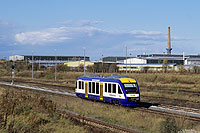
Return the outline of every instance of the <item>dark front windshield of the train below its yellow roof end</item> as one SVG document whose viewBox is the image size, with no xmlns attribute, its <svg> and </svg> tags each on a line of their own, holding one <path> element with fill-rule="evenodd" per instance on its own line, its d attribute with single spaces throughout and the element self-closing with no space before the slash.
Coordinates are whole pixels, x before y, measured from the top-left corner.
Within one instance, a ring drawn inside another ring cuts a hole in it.
<svg viewBox="0 0 200 133">
<path fill-rule="evenodd" d="M 136 83 L 125 83 L 123 84 L 126 94 L 138 94 L 138 88 Z"/>
</svg>

